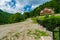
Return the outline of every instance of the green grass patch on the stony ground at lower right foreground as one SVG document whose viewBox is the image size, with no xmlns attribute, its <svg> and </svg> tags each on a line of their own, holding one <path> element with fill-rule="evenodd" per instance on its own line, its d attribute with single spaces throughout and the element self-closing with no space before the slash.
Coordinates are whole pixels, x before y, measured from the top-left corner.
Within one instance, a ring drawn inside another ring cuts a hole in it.
<svg viewBox="0 0 60 40">
<path fill-rule="evenodd" d="M 35 29 L 34 32 L 29 30 L 27 34 L 28 36 L 33 35 L 35 39 L 39 39 L 41 36 L 48 36 L 46 32 L 40 31 L 38 29 Z"/>
</svg>

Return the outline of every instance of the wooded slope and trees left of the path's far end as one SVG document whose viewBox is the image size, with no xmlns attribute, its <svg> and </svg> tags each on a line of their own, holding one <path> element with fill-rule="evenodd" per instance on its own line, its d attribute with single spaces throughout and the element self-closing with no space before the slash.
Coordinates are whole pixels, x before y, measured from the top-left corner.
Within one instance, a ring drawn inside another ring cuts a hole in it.
<svg viewBox="0 0 60 40">
<path fill-rule="evenodd" d="M 0 24 L 16 23 L 26 20 L 30 17 L 29 12 L 10 14 L 0 10 Z"/>
</svg>

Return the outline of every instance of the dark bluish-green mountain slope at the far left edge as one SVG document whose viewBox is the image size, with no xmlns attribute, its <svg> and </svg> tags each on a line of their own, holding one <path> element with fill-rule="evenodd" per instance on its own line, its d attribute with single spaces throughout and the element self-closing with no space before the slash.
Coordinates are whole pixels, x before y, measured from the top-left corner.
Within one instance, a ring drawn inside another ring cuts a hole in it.
<svg viewBox="0 0 60 40">
<path fill-rule="evenodd" d="M 0 10 L 0 24 L 7 23 L 7 19 L 10 15 L 10 13 Z"/>
</svg>

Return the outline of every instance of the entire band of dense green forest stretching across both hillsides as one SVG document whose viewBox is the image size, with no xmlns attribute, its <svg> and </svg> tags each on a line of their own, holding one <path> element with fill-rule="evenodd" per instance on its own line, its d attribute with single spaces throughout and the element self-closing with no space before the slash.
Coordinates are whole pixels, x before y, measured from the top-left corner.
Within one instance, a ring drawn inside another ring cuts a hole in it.
<svg viewBox="0 0 60 40">
<path fill-rule="evenodd" d="M 39 7 L 35 8 L 31 12 L 24 12 L 23 14 L 17 12 L 15 14 L 10 14 L 8 12 L 4 12 L 0 10 L 0 24 L 8 24 L 8 23 L 15 23 L 24 21 L 27 18 L 40 16 L 40 11 L 44 8 L 52 8 L 54 9 L 55 13 L 60 13 L 60 0 L 51 0 L 46 2 Z"/>
</svg>

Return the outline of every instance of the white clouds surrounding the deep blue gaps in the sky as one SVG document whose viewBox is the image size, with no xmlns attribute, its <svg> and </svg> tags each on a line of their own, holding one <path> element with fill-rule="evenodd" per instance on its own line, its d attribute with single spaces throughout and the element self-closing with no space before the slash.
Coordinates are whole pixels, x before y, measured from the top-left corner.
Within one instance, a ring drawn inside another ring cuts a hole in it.
<svg viewBox="0 0 60 40">
<path fill-rule="evenodd" d="M 7 11 L 10 13 L 16 13 L 16 12 L 24 12 L 24 7 L 26 5 L 32 4 L 31 9 L 33 10 L 37 6 L 39 6 L 41 3 L 45 2 L 44 0 L 15 0 L 16 4 L 14 7 L 11 7 L 8 3 L 12 0 L 0 0 L 0 9 L 3 11 Z"/>
</svg>

